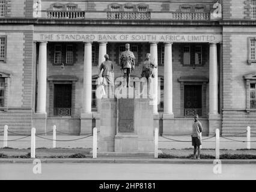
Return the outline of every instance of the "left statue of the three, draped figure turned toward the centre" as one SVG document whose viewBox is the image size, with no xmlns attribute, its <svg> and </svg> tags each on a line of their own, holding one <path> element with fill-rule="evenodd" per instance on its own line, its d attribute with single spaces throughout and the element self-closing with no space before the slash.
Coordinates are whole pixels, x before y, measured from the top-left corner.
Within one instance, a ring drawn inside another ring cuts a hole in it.
<svg viewBox="0 0 256 192">
<path fill-rule="evenodd" d="M 105 61 L 102 62 L 102 64 L 100 65 L 99 68 L 99 77 L 100 77 L 100 73 L 102 73 L 102 77 L 103 77 L 103 82 L 102 84 L 104 85 L 105 91 L 106 91 L 106 95 L 108 96 L 108 86 L 111 87 L 111 91 L 114 92 L 114 82 L 113 82 L 113 78 L 111 76 L 111 73 L 114 72 L 114 67 L 112 64 L 112 61 L 109 61 L 109 56 L 108 54 L 104 55 L 105 57 Z"/>
</svg>

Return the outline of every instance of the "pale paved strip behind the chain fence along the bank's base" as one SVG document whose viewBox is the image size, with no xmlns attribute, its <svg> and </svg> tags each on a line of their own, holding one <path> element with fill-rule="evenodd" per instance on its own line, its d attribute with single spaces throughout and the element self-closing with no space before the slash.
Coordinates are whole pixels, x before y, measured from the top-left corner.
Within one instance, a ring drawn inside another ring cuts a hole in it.
<svg viewBox="0 0 256 192">
<path fill-rule="evenodd" d="M 22 136 L 8 136 L 8 140 L 19 139 Z M 43 136 L 47 139 L 52 139 L 52 136 Z M 72 140 L 79 139 L 85 136 L 56 136 L 56 140 Z M 177 142 L 165 139 L 163 137 L 159 137 L 159 149 L 184 149 L 184 148 L 192 148 L 191 145 L 191 137 L 190 136 L 166 136 L 170 139 L 180 140 L 183 142 Z M 99 137 L 98 137 L 99 138 Z M 207 139 L 209 137 L 202 137 L 203 145 L 202 149 L 214 149 L 215 148 L 215 137 L 211 139 Z M 0 136 L 0 140 L 3 140 L 4 137 Z M 25 139 L 17 140 L 17 141 L 9 141 L 8 147 L 11 148 L 30 148 L 31 137 L 26 137 Z M 207 140 L 204 140 L 207 139 Z M 239 141 L 246 141 L 246 137 L 228 137 L 228 139 L 234 139 Z M 187 142 L 184 142 L 187 141 Z M 220 149 L 245 149 L 247 143 L 246 142 L 234 142 L 232 140 L 227 140 L 221 137 L 220 139 Z M 256 141 L 256 137 L 251 137 L 251 141 Z M 2 147 L 2 141 L 0 141 L 0 148 Z M 87 137 L 81 140 L 74 140 L 69 142 L 57 141 L 57 148 L 93 148 L 93 137 Z M 36 148 L 52 148 L 52 141 L 42 139 L 36 137 Z M 251 149 L 256 149 L 256 142 L 251 142 Z"/>
</svg>

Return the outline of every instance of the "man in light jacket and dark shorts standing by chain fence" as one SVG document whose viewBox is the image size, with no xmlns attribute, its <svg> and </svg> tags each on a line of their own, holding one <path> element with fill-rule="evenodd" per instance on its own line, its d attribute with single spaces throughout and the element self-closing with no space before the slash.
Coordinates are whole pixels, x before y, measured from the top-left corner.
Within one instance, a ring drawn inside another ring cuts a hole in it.
<svg viewBox="0 0 256 192">
<path fill-rule="evenodd" d="M 202 132 L 203 127 L 200 121 L 198 121 L 198 115 L 195 115 L 195 121 L 192 125 L 192 145 L 194 146 L 194 159 L 200 160 L 200 133 Z M 198 155 L 197 154 L 198 150 Z"/>
</svg>

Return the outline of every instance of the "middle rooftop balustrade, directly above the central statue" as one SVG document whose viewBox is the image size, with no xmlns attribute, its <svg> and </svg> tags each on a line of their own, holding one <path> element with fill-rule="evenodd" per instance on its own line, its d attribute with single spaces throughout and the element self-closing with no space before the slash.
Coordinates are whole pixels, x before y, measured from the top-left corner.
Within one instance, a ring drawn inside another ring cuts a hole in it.
<svg viewBox="0 0 256 192">
<path fill-rule="evenodd" d="M 107 12 L 107 19 L 150 20 L 150 12 Z"/>
</svg>

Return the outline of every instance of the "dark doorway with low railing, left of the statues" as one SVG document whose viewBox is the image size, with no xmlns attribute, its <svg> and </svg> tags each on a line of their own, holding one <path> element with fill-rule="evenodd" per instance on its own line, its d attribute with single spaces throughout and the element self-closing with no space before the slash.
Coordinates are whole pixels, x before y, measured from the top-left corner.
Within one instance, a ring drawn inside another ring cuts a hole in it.
<svg viewBox="0 0 256 192">
<path fill-rule="evenodd" d="M 54 85 L 54 116 L 70 116 L 72 107 L 72 85 Z"/>
</svg>

